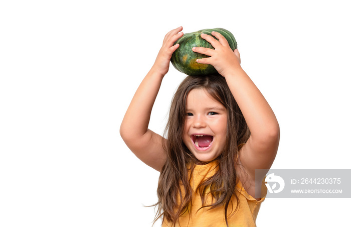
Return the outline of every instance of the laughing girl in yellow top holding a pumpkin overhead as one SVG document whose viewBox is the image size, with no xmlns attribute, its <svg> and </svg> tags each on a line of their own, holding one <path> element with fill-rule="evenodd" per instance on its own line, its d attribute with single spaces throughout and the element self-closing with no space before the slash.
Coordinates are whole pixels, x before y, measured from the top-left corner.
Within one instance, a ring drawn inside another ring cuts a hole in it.
<svg viewBox="0 0 351 227">
<path fill-rule="evenodd" d="M 162 226 L 256 226 L 267 190 L 265 173 L 279 144 L 279 125 L 269 104 L 219 33 L 201 37 L 215 48 L 193 48 L 210 56 L 218 75 L 188 76 L 174 94 L 167 138 L 148 129 L 151 109 L 168 72 L 182 27 L 166 34 L 155 63 L 125 113 L 120 134 L 144 163 L 160 171 L 157 218 Z M 256 192 L 256 194 L 255 194 Z"/>
</svg>

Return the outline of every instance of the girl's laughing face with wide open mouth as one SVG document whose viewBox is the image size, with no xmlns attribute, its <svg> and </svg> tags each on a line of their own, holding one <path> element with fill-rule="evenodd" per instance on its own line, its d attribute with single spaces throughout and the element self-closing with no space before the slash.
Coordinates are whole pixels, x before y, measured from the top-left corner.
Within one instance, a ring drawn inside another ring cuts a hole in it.
<svg viewBox="0 0 351 227">
<path fill-rule="evenodd" d="M 223 151 L 227 135 L 227 109 L 204 89 L 193 89 L 186 101 L 183 141 L 202 162 L 216 159 Z"/>
</svg>

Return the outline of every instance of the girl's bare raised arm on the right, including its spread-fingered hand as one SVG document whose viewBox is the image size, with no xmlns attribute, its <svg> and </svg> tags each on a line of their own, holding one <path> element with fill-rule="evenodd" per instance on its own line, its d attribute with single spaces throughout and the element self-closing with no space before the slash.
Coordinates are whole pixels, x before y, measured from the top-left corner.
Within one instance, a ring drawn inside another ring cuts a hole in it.
<svg viewBox="0 0 351 227">
<path fill-rule="evenodd" d="M 238 169 L 248 173 L 249 185 L 255 181 L 255 169 L 270 169 L 279 145 L 279 125 L 273 110 L 259 89 L 240 66 L 238 49 L 234 52 L 228 41 L 218 32 L 212 36 L 202 34 L 215 48 L 193 48 L 193 51 L 206 54 L 209 58 L 198 59 L 198 63 L 211 64 L 226 78 L 228 86 L 237 101 L 251 136 L 241 148 L 239 162 L 245 168 Z M 262 182 L 265 173 L 256 182 Z M 242 182 L 244 187 L 245 183 Z M 247 189 L 247 187 L 245 188 Z M 254 193 L 253 193 L 254 194 Z"/>
</svg>

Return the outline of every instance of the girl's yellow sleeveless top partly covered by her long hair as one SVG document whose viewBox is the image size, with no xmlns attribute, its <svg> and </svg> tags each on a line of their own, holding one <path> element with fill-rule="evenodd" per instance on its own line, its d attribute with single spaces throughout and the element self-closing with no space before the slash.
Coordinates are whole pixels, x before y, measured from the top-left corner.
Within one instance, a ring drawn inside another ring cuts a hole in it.
<svg viewBox="0 0 351 227">
<path fill-rule="evenodd" d="M 194 227 L 222 227 L 227 226 L 224 216 L 224 206 L 216 207 L 210 210 L 210 207 L 205 207 L 199 210 L 202 207 L 202 201 L 200 194 L 195 192 L 198 185 L 204 180 L 214 175 L 216 171 L 216 162 L 211 162 L 206 165 L 196 165 L 193 173 L 193 177 L 190 181 L 190 184 L 193 188 L 193 204 L 191 213 L 188 211 L 180 216 L 179 223 L 175 226 L 185 227 L 185 226 L 194 226 Z M 237 211 L 232 215 L 232 208 L 235 209 L 237 202 L 235 197 L 232 198 L 232 204 L 229 203 L 228 206 L 228 224 L 230 227 L 241 227 L 241 226 L 256 226 L 256 217 L 260 209 L 261 203 L 264 201 L 265 196 L 267 195 L 267 187 L 262 182 L 262 198 L 258 201 L 251 195 L 249 195 L 243 188 L 240 181 L 236 185 L 236 193 L 239 198 L 239 207 Z M 211 203 L 211 194 L 208 195 L 207 201 Z M 197 212 L 197 210 L 199 210 Z M 230 216 L 230 217 L 229 217 Z M 162 227 L 171 226 L 171 223 L 164 220 Z"/>
</svg>

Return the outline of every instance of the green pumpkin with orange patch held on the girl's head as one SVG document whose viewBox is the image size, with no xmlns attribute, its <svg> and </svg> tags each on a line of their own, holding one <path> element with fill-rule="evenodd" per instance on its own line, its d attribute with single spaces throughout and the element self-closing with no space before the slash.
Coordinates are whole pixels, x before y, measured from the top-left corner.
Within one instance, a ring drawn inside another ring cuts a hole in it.
<svg viewBox="0 0 351 227">
<path fill-rule="evenodd" d="M 217 70 L 212 65 L 200 64 L 196 62 L 196 59 L 198 58 L 206 58 L 209 56 L 196 53 L 192 50 L 193 47 L 215 49 L 209 42 L 200 36 L 201 33 L 211 35 L 212 31 L 222 34 L 224 38 L 227 39 L 229 46 L 233 51 L 237 49 L 237 42 L 233 34 L 222 28 L 204 29 L 197 32 L 187 33 L 174 43 L 174 45 L 177 43 L 180 44 L 179 48 L 174 51 L 170 59 L 170 62 L 174 68 L 190 76 L 217 74 Z"/>
</svg>

